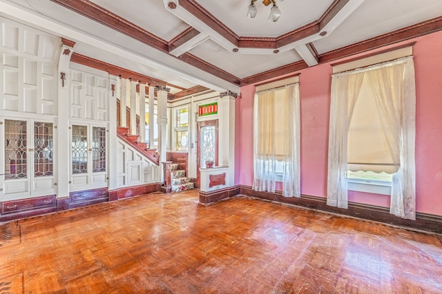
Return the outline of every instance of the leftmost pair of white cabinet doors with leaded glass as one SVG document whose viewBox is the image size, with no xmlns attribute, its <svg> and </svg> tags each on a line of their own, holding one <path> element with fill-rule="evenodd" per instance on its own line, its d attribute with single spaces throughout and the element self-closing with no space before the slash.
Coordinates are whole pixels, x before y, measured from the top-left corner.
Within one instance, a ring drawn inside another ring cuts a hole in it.
<svg viewBox="0 0 442 294">
<path fill-rule="evenodd" d="M 20 199 L 56 193 L 54 123 L 2 118 L 3 171 L 0 193 Z"/>
</svg>

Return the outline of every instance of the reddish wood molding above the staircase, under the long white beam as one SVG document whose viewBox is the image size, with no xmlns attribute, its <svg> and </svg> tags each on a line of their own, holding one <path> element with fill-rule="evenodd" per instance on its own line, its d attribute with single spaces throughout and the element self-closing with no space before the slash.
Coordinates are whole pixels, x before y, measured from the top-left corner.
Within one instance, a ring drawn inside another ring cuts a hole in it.
<svg viewBox="0 0 442 294">
<path fill-rule="evenodd" d="M 72 56 L 70 57 L 70 61 L 79 63 L 81 65 L 86 65 L 88 67 L 93 67 L 97 70 L 104 70 L 105 72 L 113 74 L 114 76 L 121 76 L 122 78 L 132 78 L 133 81 L 140 81 L 141 83 L 155 86 L 166 86 L 165 81 L 151 78 L 150 76 L 145 76 L 144 74 L 139 74 L 131 70 L 126 70 L 123 67 L 112 65 L 110 63 L 105 63 L 103 61 L 99 61 L 97 59 L 93 59 L 75 52 L 73 52 Z"/>
</svg>

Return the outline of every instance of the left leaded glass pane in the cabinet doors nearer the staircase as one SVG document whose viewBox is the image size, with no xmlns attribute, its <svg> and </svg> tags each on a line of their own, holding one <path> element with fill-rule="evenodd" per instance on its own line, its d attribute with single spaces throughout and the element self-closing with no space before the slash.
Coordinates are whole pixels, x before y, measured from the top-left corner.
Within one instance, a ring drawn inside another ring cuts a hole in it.
<svg viewBox="0 0 442 294">
<path fill-rule="evenodd" d="M 72 173 L 88 172 L 88 127 L 72 126 Z"/>
</svg>

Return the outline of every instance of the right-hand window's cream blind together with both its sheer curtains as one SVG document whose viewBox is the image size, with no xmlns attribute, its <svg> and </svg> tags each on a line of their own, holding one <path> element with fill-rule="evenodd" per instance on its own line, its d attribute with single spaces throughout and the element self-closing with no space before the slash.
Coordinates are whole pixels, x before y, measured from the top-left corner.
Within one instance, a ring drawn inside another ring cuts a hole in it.
<svg viewBox="0 0 442 294">
<path fill-rule="evenodd" d="M 347 208 L 349 168 L 389 171 L 390 213 L 415 219 L 415 108 L 412 56 L 332 76 L 327 204 Z"/>
</svg>

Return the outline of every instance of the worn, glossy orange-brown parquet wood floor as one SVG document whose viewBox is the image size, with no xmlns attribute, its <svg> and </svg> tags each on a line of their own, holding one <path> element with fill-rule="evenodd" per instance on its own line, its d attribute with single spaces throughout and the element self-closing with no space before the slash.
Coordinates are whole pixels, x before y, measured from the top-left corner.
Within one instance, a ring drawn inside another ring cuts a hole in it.
<svg viewBox="0 0 442 294">
<path fill-rule="evenodd" d="M 442 293 L 442 237 L 153 194 L 0 226 L 0 293 Z"/>
</svg>

